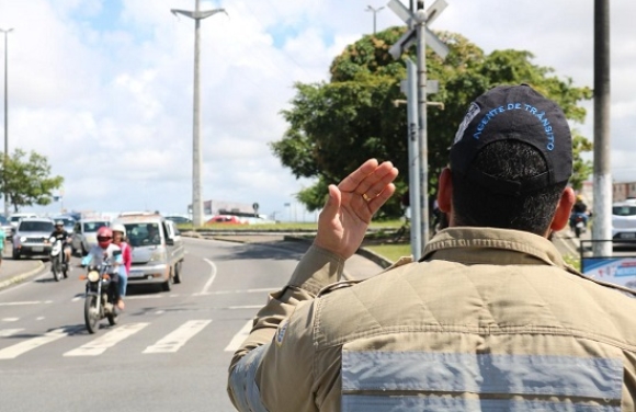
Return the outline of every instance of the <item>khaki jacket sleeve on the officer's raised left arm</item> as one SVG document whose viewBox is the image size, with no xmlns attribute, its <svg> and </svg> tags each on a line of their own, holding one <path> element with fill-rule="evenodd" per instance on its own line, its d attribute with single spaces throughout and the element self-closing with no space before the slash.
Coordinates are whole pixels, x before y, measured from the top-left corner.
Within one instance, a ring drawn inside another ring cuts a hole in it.
<svg viewBox="0 0 636 412">
<path fill-rule="evenodd" d="M 340 279 L 343 266 L 343 259 L 313 245 L 287 285 L 270 294 L 229 367 L 228 393 L 239 411 L 317 410 L 311 304 Z"/>
</svg>

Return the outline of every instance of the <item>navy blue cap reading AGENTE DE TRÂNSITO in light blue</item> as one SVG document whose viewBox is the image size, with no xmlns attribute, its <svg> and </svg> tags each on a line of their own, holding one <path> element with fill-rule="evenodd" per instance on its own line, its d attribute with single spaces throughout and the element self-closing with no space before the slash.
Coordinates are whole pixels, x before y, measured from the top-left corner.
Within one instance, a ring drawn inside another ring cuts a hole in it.
<svg viewBox="0 0 636 412">
<path fill-rule="evenodd" d="M 521 180 L 504 180 L 472 169 L 487 145 L 519 140 L 542 152 L 547 172 Z M 506 195 L 567 182 L 572 175 L 572 138 L 563 110 L 527 84 L 501 85 L 470 103 L 451 147 L 451 170 L 485 188 Z"/>
</svg>

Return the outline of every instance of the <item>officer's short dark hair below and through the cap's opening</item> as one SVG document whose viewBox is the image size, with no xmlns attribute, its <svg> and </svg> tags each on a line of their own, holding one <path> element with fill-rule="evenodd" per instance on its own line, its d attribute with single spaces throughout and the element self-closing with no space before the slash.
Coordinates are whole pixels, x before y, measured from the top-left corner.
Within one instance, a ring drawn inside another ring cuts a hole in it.
<svg viewBox="0 0 636 412">
<path fill-rule="evenodd" d="M 537 149 L 523 141 L 498 140 L 479 151 L 472 168 L 501 179 L 521 180 L 546 172 L 547 164 Z M 455 226 L 516 229 L 544 236 L 566 184 L 510 196 L 492 193 L 468 176 L 454 173 Z"/>
</svg>

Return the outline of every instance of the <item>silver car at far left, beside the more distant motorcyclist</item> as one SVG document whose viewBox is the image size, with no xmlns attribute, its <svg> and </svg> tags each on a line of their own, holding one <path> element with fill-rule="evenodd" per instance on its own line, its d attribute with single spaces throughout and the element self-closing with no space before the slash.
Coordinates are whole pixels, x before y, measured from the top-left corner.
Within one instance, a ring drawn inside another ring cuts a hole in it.
<svg viewBox="0 0 636 412">
<path fill-rule="evenodd" d="M 53 229 L 53 220 L 48 218 L 22 218 L 13 234 L 13 259 L 36 255 L 48 256 L 50 254 L 48 238 Z"/>
</svg>

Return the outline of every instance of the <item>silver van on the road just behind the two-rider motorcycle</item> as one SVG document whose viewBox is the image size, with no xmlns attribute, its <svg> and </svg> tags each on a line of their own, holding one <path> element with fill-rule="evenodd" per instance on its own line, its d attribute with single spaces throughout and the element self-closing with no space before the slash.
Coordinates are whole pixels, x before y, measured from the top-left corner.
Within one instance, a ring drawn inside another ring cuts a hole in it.
<svg viewBox="0 0 636 412">
<path fill-rule="evenodd" d="M 185 248 L 172 220 L 154 213 L 128 213 L 114 219 L 114 224 L 124 225 L 133 248 L 128 287 L 135 284 L 158 284 L 168 291 L 172 283 L 181 283 Z"/>
</svg>

